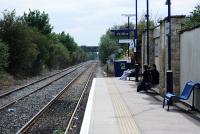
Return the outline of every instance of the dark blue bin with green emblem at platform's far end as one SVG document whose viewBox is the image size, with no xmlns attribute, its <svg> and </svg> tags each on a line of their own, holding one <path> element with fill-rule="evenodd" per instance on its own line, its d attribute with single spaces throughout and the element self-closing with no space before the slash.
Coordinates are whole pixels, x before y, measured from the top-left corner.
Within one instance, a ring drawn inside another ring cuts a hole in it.
<svg viewBox="0 0 200 134">
<path fill-rule="evenodd" d="M 114 61 L 115 77 L 121 77 L 124 70 L 131 69 L 131 63 L 127 61 Z"/>
</svg>

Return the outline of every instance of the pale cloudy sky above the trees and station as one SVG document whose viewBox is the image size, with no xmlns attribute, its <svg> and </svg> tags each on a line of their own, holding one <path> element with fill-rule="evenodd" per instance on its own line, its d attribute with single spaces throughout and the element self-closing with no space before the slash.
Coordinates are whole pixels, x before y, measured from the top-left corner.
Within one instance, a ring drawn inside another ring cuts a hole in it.
<svg viewBox="0 0 200 134">
<path fill-rule="evenodd" d="M 153 20 L 167 16 L 166 0 L 149 0 Z M 189 15 L 199 0 L 171 0 L 172 15 Z M 113 25 L 127 22 L 122 14 L 135 14 L 135 0 L 0 0 L 0 12 L 31 10 L 48 13 L 53 31 L 69 33 L 79 46 L 98 46 L 100 37 Z M 138 0 L 138 19 L 146 13 L 146 0 Z M 0 15 L 2 18 L 2 14 Z M 135 23 L 135 17 L 131 22 Z"/>
</svg>

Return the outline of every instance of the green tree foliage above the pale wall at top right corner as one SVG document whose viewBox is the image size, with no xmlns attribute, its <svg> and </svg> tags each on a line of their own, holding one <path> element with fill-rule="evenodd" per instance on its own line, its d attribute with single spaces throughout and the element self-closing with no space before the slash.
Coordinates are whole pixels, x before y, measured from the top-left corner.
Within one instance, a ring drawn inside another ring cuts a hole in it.
<svg viewBox="0 0 200 134">
<path fill-rule="evenodd" d="M 185 21 L 185 28 L 193 28 L 196 26 L 200 26 L 200 4 L 197 5 L 192 12 L 190 12 L 190 15 Z"/>
</svg>

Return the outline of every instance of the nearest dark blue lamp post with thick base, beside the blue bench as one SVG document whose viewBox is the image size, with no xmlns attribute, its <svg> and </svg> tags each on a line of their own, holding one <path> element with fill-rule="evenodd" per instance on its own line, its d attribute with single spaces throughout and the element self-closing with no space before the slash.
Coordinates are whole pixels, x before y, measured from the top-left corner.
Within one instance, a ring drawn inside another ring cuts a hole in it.
<svg viewBox="0 0 200 134">
<path fill-rule="evenodd" d="M 173 93 L 173 72 L 171 70 L 171 0 L 166 0 L 166 5 L 168 5 L 168 17 L 167 17 L 167 25 L 168 25 L 168 70 L 167 70 L 167 92 Z"/>
</svg>

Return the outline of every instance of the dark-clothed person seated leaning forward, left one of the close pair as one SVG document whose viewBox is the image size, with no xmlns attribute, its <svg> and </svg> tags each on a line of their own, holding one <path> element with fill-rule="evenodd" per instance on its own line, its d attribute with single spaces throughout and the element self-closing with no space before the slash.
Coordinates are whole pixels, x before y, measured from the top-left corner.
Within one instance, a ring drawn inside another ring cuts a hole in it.
<svg viewBox="0 0 200 134">
<path fill-rule="evenodd" d="M 151 82 L 151 78 L 150 78 L 150 71 L 149 71 L 149 67 L 148 65 L 144 65 L 144 72 L 143 72 L 143 79 L 141 81 L 141 83 L 139 83 L 138 87 L 137 87 L 137 92 L 141 91 L 141 90 L 148 90 L 150 88 L 149 83 Z"/>
</svg>

